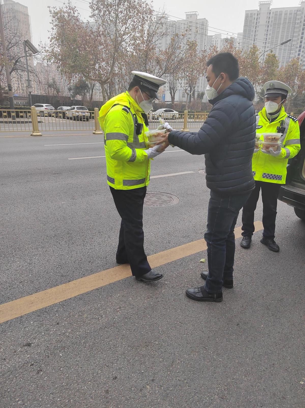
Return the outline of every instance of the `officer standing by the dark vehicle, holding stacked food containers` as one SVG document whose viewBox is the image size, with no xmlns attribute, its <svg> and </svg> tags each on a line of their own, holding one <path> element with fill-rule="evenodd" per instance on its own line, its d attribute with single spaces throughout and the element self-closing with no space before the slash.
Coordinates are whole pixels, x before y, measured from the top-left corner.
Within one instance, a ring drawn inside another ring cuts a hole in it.
<svg viewBox="0 0 305 408">
<path fill-rule="evenodd" d="M 259 199 L 263 201 L 263 238 L 261 243 L 270 251 L 279 252 L 274 241 L 276 206 L 279 188 L 285 184 L 288 160 L 301 149 L 298 121 L 287 115 L 284 109 L 287 95 L 292 92 L 289 86 L 279 81 L 268 81 L 263 86 L 265 107 L 257 114 L 256 129 L 259 133 L 281 133 L 280 145 L 268 151 L 256 149 L 252 159 L 255 189 L 244 205 L 242 214 L 243 239 L 241 246 L 250 248 L 254 228 L 254 211 Z M 263 135 L 260 138 L 263 141 Z"/>
</svg>

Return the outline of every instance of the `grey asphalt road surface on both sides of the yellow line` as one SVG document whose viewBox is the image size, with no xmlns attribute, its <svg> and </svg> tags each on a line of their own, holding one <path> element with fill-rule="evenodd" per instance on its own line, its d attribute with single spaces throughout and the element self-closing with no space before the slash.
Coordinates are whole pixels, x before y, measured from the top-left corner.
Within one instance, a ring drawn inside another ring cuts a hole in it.
<svg viewBox="0 0 305 408">
<path fill-rule="evenodd" d="M 101 142 L 0 139 L 0 304 L 116 266 Z M 152 163 L 167 176 L 148 191 L 179 202 L 145 207 L 147 255 L 206 227 L 204 157 L 172 150 Z M 169 175 L 181 172 L 192 173 Z M 255 220 L 261 212 L 259 201 Z M 155 284 L 127 277 L 2 323 L 0 407 L 304 408 L 305 224 L 279 202 L 280 253 L 260 237 L 247 251 L 237 239 L 235 286 L 220 304 L 185 297 L 203 282 L 202 252 L 159 266 Z"/>
</svg>

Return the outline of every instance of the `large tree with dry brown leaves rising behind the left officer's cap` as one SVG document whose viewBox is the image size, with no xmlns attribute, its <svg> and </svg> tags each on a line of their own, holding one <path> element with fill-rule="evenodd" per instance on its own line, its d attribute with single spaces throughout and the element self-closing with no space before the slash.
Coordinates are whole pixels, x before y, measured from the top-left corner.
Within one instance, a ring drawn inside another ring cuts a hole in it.
<svg viewBox="0 0 305 408">
<path fill-rule="evenodd" d="M 123 66 L 122 56 L 136 48 L 151 6 L 140 0 L 92 0 L 94 23 L 83 22 L 70 3 L 51 7 L 48 59 L 68 77 L 80 75 L 105 86 Z"/>
</svg>

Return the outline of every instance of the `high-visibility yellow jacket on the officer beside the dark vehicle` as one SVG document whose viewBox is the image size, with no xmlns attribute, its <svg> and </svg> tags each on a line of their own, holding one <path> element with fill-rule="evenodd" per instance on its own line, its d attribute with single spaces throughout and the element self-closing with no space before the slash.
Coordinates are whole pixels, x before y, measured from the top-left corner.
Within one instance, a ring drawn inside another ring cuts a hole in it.
<svg viewBox="0 0 305 408">
<path fill-rule="evenodd" d="M 261 152 L 261 150 L 253 154 L 252 171 L 254 180 L 285 184 L 288 160 L 297 155 L 301 149 L 298 120 L 287 115 L 282 106 L 279 116 L 270 123 L 267 118 L 266 108 L 263 107 L 257 114 L 256 124 L 257 133 L 282 133 L 282 136 L 280 138 L 281 154 L 279 156 L 272 156 L 270 153 Z M 277 129 L 278 127 L 282 129 Z M 260 140 L 263 140 L 263 135 Z"/>
</svg>

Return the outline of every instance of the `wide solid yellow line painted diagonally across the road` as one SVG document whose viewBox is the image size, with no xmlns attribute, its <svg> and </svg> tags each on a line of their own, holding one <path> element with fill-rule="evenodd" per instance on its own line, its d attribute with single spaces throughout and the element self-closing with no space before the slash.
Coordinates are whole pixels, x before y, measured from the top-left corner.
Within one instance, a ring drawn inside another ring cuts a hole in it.
<svg viewBox="0 0 305 408">
<path fill-rule="evenodd" d="M 263 229 L 263 224 L 260 221 L 256 221 L 254 224 L 255 231 Z M 239 227 L 235 229 L 235 238 L 240 237 L 241 228 Z M 152 268 L 157 268 L 158 266 L 168 264 L 169 262 L 205 250 L 206 242 L 204 239 L 198 239 L 197 241 L 189 242 L 188 244 L 176 246 L 176 248 L 171 248 L 167 251 L 150 255 L 148 261 Z M 97 272 L 93 275 L 55 286 L 54 288 L 42 290 L 42 292 L 34 293 L 33 295 L 12 300 L 11 302 L 0 305 L 0 323 L 7 322 L 8 320 L 15 319 L 15 317 L 26 315 L 27 313 L 31 313 L 55 303 L 62 302 L 63 300 L 81 295 L 82 293 L 100 288 L 112 282 L 125 279 L 131 275 L 129 265 L 115 266 L 106 271 Z"/>
</svg>

